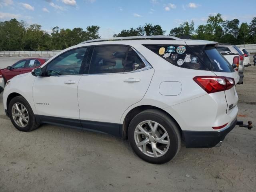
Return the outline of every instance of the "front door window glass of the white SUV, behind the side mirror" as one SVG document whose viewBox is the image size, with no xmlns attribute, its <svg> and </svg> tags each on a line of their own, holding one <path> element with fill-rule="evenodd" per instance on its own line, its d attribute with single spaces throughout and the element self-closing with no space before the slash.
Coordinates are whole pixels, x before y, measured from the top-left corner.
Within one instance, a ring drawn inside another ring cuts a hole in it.
<svg viewBox="0 0 256 192">
<path fill-rule="evenodd" d="M 79 74 L 86 50 L 87 48 L 78 48 L 58 56 L 47 65 L 46 76 Z"/>
</svg>

